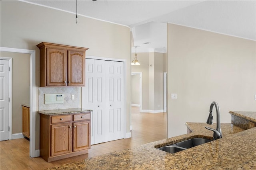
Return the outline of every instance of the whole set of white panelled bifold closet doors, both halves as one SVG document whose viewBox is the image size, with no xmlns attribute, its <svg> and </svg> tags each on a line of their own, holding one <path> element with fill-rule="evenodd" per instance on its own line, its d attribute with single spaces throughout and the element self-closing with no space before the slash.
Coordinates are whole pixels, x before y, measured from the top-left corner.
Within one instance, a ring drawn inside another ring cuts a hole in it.
<svg viewBox="0 0 256 170">
<path fill-rule="evenodd" d="M 82 107 L 92 109 L 91 145 L 124 138 L 124 63 L 86 59 Z"/>
</svg>

